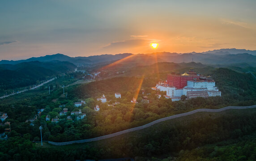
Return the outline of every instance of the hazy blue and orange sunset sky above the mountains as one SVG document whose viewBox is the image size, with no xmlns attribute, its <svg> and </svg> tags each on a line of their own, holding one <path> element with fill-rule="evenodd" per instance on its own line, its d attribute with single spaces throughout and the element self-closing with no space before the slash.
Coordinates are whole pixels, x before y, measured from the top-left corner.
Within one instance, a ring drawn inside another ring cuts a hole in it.
<svg viewBox="0 0 256 161">
<path fill-rule="evenodd" d="M 0 60 L 220 48 L 256 50 L 256 0 L 0 1 Z"/>
</svg>

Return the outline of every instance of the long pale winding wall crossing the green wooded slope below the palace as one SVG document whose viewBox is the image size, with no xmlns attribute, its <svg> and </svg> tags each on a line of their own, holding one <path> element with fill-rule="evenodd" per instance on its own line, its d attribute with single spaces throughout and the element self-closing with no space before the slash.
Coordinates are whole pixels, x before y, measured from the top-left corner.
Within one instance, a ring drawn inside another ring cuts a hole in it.
<svg viewBox="0 0 256 161">
<path fill-rule="evenodd" d="M 61 146 L 61 145 L 68 145 L 68 144 L 74 144 L 74 143 L 86 143 L 86 142 L 98 141 L 98 140 L 108 139 L 108 138 L 111 138 L 111 137 L 114 137 L 114 136 L 119 136 L 119 135 L 122 135 L 122 134 L 125 134 L 125 133 L 128 133 L 128 132 L 145 129 L 147 127 L 150 127 L 150 126 L 152 126 L 156 123 L 160 123 L 162 121 L 175 119 L 175 118 L 179 118 L 179 117 L 182 117 L 182 116 L 187 116 L 187 115 L 190 115 L 190 114 L 195 114 L 197 112 L 221 112 L 223 110 L 229 110 L 229 109 L 250 109 L 250 108 L 256 108 L 256 105 L 253 105 L 253 106 L 227 106 L 227 107 L 224 107 L 224 108 L 221 108 L 221 109 L 197 109 L 197 110 L 192 110 L 190 112 L 186 112 L 186 113 L 183 113 L 183 114 L 175 114 L 175 115 L 172 115 L 172 116 L 168 116 L 166 118 L 158 119 L 158 120 L 155 120 L 151 123 L 147 123 L 145 125 L 142 125 L 140 127 L 134 127 L 134 128 L 130 128 L 130 129 L 127 129 L 127 130 L 115 132 L 113 134 L 109 134 L 109 135 L 105 135 L 105 136 L 99 136 L 99 137 L 92 138 L 92 139 L 75 140 L 75 141 L 68 141 L 68 142 L 61 142 L 61 143 L 48 141 L 48 143 L 53 144 L 53 145 Z"/>
</svg>

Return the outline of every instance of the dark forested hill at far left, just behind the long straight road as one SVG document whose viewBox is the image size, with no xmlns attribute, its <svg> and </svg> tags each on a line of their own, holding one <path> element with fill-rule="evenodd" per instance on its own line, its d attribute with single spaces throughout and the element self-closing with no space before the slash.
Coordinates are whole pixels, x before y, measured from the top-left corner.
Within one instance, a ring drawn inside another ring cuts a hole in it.
<svg viewBox="0 0 256 161">
<path fill-rule="evenodd" d="M 14 89 L 33 85 L 63 72 L 73 71 L 76 66 L 69 62 L 43 63 L 38 61 L 20 64 L 0 64 L 0 89 Z"/>
</svg>

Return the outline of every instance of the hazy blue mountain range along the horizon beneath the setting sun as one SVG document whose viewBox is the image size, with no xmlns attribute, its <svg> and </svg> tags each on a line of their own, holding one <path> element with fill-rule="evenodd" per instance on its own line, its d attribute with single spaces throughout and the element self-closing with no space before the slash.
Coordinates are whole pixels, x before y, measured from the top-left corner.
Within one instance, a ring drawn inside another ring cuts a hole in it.
<svg viewBox="0 0 256 161">
<path fill-rule="evenodd" d="M 69 57 L 63 54 L 46 55 L 41 57 L 32 57 L 26 60 L 1 60 L 0 64 L 19 64 L 30 61 L 40 62 L 56 62 L 56 61 L 68 61 L 75 65 L 78 64 L 98 64 L 102 62 L 113 62 L 119 59 L 125 59 L 120 63 L 126 64 L 144 64 L 149 65 L 158 62 L 174 62 L 174 63 L 188 63 L 196 62 L 202 64 L 237 64 L 247 63 L 252 64 L 256 62 L 256 51 L 250 51 L 245 49 L 218 49 L 213 51 L 205 51 L 202 53 L 170 53 L 170 52 L 157 52 L 151 54 L 134 54 L 123 53 L 116 55 L 94 55 L 88 57 Z"/>
</svg>

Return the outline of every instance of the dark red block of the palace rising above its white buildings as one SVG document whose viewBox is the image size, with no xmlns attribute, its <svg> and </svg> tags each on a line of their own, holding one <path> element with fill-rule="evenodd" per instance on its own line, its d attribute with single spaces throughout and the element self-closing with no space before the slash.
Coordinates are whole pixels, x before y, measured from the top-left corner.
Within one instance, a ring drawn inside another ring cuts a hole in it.
<svg viewBox="0 0 256 161">
<path fill-rule="evenodd" d="M 187 86 L 188 80 L 193 80 L 194 78 L 199 79 L 200 76 L 197 75 L 192 68 L 190 68 L 188 73 L 185 72 L 184 74 L 180 74 L 179 72 L 171 72 L 171 74 L 167 75 L 167 84 L 181 89 Z"/>
</svg>

